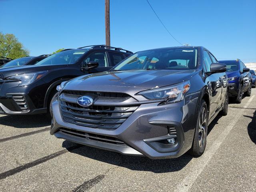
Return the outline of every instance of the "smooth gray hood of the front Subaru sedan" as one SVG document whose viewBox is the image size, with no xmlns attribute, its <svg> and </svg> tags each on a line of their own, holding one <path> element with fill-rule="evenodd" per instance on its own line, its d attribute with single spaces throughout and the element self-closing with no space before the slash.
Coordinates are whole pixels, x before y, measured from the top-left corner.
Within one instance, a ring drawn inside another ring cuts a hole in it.
<svg viewBox="0 0 256 192">
<path fill-rule="evenodd" d="M 107 71 L 77 77 L 69 81 L 64 89 L 104 91 L 109 90 L 110 86 L 121 89 L 125 87 L 151 89 L 189 80 L 197 72 L 197 70 Z"/>
</svg>

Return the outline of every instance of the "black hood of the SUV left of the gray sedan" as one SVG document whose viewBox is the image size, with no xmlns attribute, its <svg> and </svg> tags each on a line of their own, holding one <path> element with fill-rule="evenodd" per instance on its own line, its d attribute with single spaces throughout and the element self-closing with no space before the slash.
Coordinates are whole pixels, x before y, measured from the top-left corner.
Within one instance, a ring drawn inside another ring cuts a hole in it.
<svg viewBox="0 0 256 192">
<path fill-rule="evenodd" d="M 38 71 L 46 71 L 52 70 L 56 68 L 63 68 L 68 65 L 32 65 L 32 66 L 18 66 L 18 67 L 10 67 L 10 68 L 0 68 L 0 78 L 10 77 L 16 74 L 24 74 L 24 73 L 31 73 L 31 72 L 38 72 Z"/>
</svg>

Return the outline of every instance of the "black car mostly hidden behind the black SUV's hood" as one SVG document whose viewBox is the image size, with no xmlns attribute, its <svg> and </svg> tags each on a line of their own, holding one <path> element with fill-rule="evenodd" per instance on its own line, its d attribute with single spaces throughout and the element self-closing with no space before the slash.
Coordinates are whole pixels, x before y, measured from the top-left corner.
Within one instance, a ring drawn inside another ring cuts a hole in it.
<svg viewBox="0 0 256 192">
<path fill-rule="evenodd" d="M 45 59 L 48 56 L 50 56 L 50 55 L 40 55 L 37 57 L 33 57 L 33 56 L 21 57 L 21 58 L 14 59 L 14 60 L 0 66 L 0 69 L 9 68 L 9 67 L 18 67 L 18 66 L 23 66 L 23 65 L 34 65 L 34 64 L 40 62 L 41 60 Z"/>
</svg>

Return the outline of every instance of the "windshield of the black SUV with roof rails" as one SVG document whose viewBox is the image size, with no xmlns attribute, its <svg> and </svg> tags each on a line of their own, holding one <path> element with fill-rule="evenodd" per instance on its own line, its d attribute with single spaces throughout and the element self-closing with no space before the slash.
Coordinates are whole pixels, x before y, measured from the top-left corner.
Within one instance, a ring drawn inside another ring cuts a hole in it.
<svg viewBox="0 0 256 192">
<path fill-rule="evenodd" d="M 35 65 L 63 65 L 74 64 L 89 49 L 66 50 L 53 54 Z"/>
</svg>

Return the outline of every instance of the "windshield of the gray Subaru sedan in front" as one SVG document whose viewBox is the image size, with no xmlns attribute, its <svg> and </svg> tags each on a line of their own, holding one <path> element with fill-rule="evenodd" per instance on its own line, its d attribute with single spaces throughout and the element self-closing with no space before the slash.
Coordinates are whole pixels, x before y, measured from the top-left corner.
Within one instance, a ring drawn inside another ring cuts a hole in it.
<svg viewBox="0 0 256 192">
<path fill-rule="evenodd" d="M 189 70 L 197 68 L 197 60 L 197 48 L 161 48 L 132 54 L 113 70 Z"/>
</svg>

